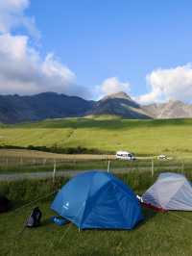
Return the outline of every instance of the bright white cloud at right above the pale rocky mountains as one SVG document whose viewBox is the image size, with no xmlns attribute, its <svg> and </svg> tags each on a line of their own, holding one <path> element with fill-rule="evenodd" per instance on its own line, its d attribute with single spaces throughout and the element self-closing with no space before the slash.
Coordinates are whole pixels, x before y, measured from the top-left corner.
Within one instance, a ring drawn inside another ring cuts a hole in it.
<svg viewBox="0 0 192 256">
<path fill-rule="evenodd" d="M 141 104 L 169 99 L 192 101 L 192 64 L 168 69 L 158 68 L 148 74 L 146 79 L 151 91 L 137 98 Z"/>
</svg>

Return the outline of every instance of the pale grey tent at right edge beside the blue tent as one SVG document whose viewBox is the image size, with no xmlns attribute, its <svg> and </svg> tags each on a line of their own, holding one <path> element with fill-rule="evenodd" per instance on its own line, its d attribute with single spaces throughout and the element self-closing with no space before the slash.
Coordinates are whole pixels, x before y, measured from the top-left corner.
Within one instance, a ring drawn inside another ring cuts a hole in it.
<svg viewBox="0 0 192 256">
<path fill-rule="evenodd" d="M 192 211 L 192 186 L 182 174 L 161 173 L 142 200 L 157 209 Z"/>
</svg>

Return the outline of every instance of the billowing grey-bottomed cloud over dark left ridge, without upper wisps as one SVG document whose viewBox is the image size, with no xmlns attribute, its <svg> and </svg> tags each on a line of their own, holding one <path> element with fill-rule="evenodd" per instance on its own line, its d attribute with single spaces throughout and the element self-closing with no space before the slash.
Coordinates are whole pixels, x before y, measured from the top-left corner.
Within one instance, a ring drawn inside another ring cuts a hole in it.
<svg viewBox="0 0 192 256">
<path fill-rule="evenodd" d="M 27 36 L 0 36 L 0 93 L 31 94 L 49 90 L 73 94 L 79 91 L 75 74 L 53 54 L 42 59 L 28 40 Z"/>
</svg>

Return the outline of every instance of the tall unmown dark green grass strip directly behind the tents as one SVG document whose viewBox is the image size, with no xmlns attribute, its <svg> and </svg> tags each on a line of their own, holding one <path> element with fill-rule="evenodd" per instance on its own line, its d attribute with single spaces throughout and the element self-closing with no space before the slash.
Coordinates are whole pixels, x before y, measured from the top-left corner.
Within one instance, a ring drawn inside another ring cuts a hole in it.
<svg viewBox="0 0 192 256">
<path fill-rule="evenodd" d="M 179 171 L 178 171 L 179 172 Z M 142 193 L 147 190 L 154 182 L 160 171 L 156 171 L 152 176 L 150 172 L 131 171 L 129 173 L 115 174 L 134 192 Z M 192 180 L 192 170 L 185 173 L 189 180 Z M 69 178 L 56 177 L 53 179 L 39 180 L 21 180 L 21 181 L 3 181 L 0 182 L 0 193 L 5 194 L 13 201 L 31 201 L 38 197 L 57 191 L 63 186 Z M 43 199 L 44 200 L 44 199 Z"/>
</svg>

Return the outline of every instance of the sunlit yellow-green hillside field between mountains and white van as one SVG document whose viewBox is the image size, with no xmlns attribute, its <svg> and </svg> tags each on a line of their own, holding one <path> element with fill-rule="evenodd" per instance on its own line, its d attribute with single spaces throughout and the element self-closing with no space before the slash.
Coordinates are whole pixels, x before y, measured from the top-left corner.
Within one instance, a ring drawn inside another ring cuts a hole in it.
<svg viewBox="0 0 192 256">
<path fill-rule="evenodd" d="M 83 146 L 139 155 L 191 155 L 192 119 L 65 118 L 0 128 L 0 145 Z"/>
</svg>

